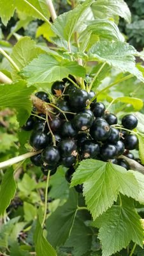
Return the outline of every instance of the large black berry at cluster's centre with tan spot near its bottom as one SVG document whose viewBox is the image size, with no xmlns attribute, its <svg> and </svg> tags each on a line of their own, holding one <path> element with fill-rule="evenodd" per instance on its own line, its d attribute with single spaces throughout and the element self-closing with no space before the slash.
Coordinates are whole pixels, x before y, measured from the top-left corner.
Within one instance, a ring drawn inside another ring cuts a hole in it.
<svg viewBox="0 0 144 256">
<path fill-rule="evenodd" d="M 73 126 L 78 131 L 85 131 L 92 126 L 93 121 L 94 115 L 90 115 L 89 112 L 85 111 L 75 115 L 73 118 Z"/>
</svg>

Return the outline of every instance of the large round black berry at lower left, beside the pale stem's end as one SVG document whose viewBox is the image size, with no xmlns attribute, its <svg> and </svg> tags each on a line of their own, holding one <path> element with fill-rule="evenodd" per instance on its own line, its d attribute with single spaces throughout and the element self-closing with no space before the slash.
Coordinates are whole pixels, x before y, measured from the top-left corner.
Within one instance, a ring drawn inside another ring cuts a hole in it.
<svg viewBox="0 0 144 256">
<path fill-rule="evenodd" d="M 41 157 L 43 159 L 43 162 L 47 163 L 49 166 L 55 166 L 57 163 L 59 163 L 60 160 L 60 154 L 57 147 L 54 146 L 48 146 L 43 150 Z"/>
</svg>

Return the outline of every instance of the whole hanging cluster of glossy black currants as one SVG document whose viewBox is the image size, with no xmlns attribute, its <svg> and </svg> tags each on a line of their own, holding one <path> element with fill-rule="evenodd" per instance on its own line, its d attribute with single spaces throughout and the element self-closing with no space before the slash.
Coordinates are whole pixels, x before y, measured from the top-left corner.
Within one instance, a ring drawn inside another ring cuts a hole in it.
<svg viewBox="0 0 144 256">
<path fill-rule="evenodd" d="M 53 175 L 62 164 L 68 168 L 66 179 L 70 182 L 78 163 L 87 158 L 112 161 L 129 169 L 119 156 L 127 152 L 127 157 L 133 158 L 129 150 L 138 147 L 138 138 L 131 133 L 138 124 L 134 115 L 124 116 L 118 125 L 117 116 L 97 102 L 93 91 L 76 88 L 68 79 L 52 85 L 52 102 L 45 92 L 37 92 L 36 97 L 54 109 L 47 117 L 34 109 L 23 127 L 33 130 L 29 142 L 34 150 L 43 150 L 31 157 L 43 173 L 47 175 L 50 170 Z M 82 191 L 82 186 L 76 186 L 76 191 Z"/>
</svg>

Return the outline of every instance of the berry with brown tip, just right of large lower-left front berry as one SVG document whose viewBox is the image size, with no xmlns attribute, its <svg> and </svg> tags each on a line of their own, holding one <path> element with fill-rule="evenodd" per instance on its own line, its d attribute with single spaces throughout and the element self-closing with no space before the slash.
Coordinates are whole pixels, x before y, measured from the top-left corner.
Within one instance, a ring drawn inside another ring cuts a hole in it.
<svg viewBox="0 0 144 256">
<path fill-rule="evenodd" d="M 76 141 L 72 139 L 64 139 L 59 142 L 59 152 L 62 157 L 75 156 L 76 153 Z"/>
</svg>

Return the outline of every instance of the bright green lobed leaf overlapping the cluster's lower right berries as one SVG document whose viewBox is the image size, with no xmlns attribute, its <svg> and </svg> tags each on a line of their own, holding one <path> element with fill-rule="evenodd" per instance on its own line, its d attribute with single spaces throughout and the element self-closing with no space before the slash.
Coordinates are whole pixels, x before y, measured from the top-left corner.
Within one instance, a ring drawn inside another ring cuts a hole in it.
<svg viewBox="0 0 144 256">
<path fill-rule="evenodd" d="M 83 183 L 83 195 L 94 219 L 117 201 L 117 195 L 137 198 L 138 182 L 133 173 L 117 164 L 94 159 L 82 161 L 73 174 L 71 186 Z"/>
</svg>

